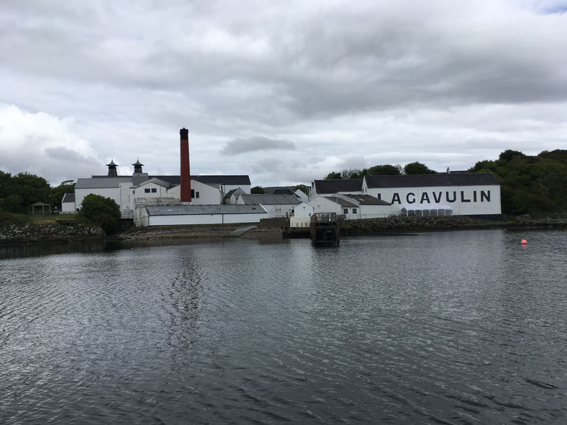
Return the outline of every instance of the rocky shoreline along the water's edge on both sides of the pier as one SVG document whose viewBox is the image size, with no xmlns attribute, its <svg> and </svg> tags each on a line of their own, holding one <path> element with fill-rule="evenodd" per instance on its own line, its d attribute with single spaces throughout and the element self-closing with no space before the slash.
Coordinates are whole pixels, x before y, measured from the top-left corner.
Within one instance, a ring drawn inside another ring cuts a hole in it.
<svg viewBox="0 0 567 425">
<path fill-rule="evenodd" d="M 286 218 L 262 220 L 248 230 L 245 237 L 263 237 L 279 234 L 289 236 Z M 176 225 L 152 228 L 128 228 L 107 236 L 102 229 L 86 225 L 8 225 L 0 228 L 0 244 L 42 244 L 65 242 L 136 241 L 159 239 L 218 239 L 238 237 L 233 231 L 246 225 Z M 549 228 L 567 227 L 567 214 L 551 214 L 543 218 L 517 217 L 511 221 L 483 221 L 465 216 L 450 217 L 390 217 L 343 221 L 342 236 L 379 235 L 392 232 L 426 232 L 435 230 L 462 230 L 480 228 Z M 307 232 L 308 235 L 308 232 Z"/>
</svg>

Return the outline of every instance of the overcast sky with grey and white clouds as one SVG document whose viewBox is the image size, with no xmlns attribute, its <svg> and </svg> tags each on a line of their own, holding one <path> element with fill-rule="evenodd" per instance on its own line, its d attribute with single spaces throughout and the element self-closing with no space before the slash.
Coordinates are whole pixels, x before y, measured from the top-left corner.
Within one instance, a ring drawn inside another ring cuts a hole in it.
<svg viewBox="0 0 567 425">
<path fill-rule="evenodd" d="M 291 185 L 567 149 L 567 0 L 2 0 L 0 169 Z"/>
</svg>

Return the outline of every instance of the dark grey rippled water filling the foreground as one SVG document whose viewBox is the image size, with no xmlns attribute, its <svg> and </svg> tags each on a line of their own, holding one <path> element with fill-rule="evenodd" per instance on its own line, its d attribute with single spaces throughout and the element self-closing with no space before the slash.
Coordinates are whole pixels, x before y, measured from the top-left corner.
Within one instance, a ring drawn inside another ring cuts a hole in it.
<svg viewBox="0 0 567 425">
<path fill-rule="evenodd" d="M 0 423 L 563 424 L 566 235 L 3 251 Z"/>
</svg>

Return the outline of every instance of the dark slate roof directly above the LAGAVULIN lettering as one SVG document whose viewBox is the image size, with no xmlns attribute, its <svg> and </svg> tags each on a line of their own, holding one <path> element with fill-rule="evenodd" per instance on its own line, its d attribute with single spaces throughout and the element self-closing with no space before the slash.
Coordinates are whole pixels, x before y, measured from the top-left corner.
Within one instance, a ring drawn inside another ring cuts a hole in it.
<svg viewBox="0 0 567 425">
<path fill-rule="evenodd" d="M 490 173 L 413 174 L 405 176 L 365 176 L 369 188 L 418 188 L 426 186 L 499 185 Z"/>
</svg>

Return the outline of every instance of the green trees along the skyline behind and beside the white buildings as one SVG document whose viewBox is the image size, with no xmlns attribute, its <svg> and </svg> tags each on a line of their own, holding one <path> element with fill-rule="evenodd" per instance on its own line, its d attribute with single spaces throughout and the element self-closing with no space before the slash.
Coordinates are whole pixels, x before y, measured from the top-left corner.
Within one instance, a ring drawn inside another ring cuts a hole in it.
<svg viewBox="0 0 567 425">
<path fill-rule="evenodd" d="M 539 155 L 531 156 L 508 149 L 500 153 L 498 160 L 479 161 L 468 172 L 488 172 L 496 177 L 500 183 L 504 214 L 518 216 L 567 212 L 566 150 L 542 151 Z M 375 165 L 368 169 L 344 169 L 341 172 L 330 172 L 325 179 L 360 179 L 364 176 L 400 174 L 435 174 L 435 171 L 421 162 L 411 162 L 404 167 Z M 305 185 L 296 188 L 307 191 Z M 259 186 L 254 188 L 256 193 L 263 191 Z M 0 170 L 0 211 L 27 214 L 29 206 L 35 202 L 44 202 L 61 210 L 64 193 L 73 192 L 74 182 L 71 180 L 52 187 L 46 179 L 34 174 L 22 172 L 12 175 Z M 101 200 L 96 199 L 95 203 L 97 202 Z M 92 210 L 100 211 L 102 208 L 99 205 Z M 111 215 L 116 215 L 116 209 L 109 208 L 113 210 Z"/>
</svg>

